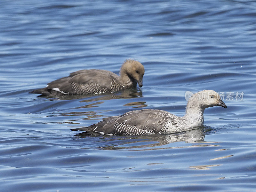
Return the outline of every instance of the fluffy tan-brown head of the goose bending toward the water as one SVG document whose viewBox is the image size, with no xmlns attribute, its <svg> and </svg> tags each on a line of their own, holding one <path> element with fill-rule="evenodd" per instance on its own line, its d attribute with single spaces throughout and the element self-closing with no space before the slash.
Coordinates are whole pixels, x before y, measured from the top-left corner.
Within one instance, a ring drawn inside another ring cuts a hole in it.
<svg viewBox="0 0 256 192">
<path fill-rule="evenodd" d="M 135 86 L 137 82 L 138 85 L 142 87 L 144 72 L 144 66 L 139 61 L 127 59 L 121 67 L 120 75 L 121 77 L 123 77 L 124 74 L 128 75 L 132 82 L 135 83 Z"/>
</svg>

